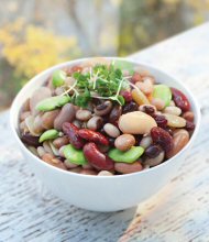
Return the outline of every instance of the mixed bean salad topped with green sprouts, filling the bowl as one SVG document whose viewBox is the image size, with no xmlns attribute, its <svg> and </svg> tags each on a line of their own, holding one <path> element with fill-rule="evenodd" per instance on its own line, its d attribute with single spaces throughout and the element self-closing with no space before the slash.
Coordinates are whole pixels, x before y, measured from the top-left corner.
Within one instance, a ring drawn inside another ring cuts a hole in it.
<svg viewBox="0 0 209 242">
<path fill-rule="evenodd" d="M 195 129 L 187 97 L 160 81 L 121 61 L 57 69 L 23 103 L 20 138 L 43 162 L 73 173 L 112 176 L 157 166 Z"/>
</svg>

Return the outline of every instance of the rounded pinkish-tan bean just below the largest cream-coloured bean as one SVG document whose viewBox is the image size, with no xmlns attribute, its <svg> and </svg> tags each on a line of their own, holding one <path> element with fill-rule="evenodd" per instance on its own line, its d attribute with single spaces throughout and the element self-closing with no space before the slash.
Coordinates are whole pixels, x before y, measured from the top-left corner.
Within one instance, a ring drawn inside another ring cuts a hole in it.
<svg viewBox="0 0 209 242">
<path fill-rule="evenodd" d="M 135 144 L 135 138 L 132 134 L 122 134 L 114 141 L 114 146 L 120 151 L 128 151 Z"/>
</svg>

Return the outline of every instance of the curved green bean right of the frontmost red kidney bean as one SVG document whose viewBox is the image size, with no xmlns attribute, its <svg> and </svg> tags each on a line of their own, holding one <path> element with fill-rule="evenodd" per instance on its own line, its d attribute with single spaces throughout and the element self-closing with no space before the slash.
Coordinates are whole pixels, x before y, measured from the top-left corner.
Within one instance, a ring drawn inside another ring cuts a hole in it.
<svg viewBox="0 0 209 242">
<path fill-rule="evenodd" d="M 144 153 L 144 148 L 141 146 L 132 146 L 129 151 L 122 152 L 118 148 L 112 148 L 108 155 L 114 162 L 123 162 L 123 163 L 133 163 L 135 162 L 142 154 Z"/>
</svg>

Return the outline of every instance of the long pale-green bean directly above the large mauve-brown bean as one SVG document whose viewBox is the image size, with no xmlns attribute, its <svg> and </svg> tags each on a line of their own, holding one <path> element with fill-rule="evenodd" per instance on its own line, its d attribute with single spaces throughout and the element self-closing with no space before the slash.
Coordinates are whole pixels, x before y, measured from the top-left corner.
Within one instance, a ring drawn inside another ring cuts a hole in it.
<svg viewBox="0 0 209 242">
<path fill-rule="evenodd" d="M 36 109 L 40 111 L 52 111 L 56 108 L 63 107 L 69 101 L 69 96 L 56 96 L 52 98 L 46 98 L 37 103 Z"/>
</svg>

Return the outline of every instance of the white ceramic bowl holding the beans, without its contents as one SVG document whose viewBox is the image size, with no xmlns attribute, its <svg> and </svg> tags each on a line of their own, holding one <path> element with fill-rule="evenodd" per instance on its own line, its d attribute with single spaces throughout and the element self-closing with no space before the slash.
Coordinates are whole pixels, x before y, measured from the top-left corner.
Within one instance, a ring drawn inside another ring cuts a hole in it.
<svg viewBox="0 0 209 242">
<path fill-rule="evenodd" d="M 116 58 L 108 58 L 116 59 Z M 119 58 L 118 58 L 119 59 Z M 31 79 L 19 92 L 10 112 L 11 129 L 16 143 L 32 170 L 56 196 L 77 207 L 95 211 L 117 211 L 138 205 L 156 194 L 165 186 L 184 163 L 185 156 L 194 143 L 200 123 L 200 111 L 191 92 L 174 77 L 150 65 L 138 64 L 148 70 L 157 81 L 180 89 L 189 99 L 195 113 L 196 129 L 189 143 L 173 158 L 150 169 L 120 176 L 89 176 L 58 169 L 33 155 L 19 139 L 19 112 L 23 102 L 55 70 L 76 65 L 87 59 L 78 59 L 56 65 Z M 128 61 L 128 59 L 127 59 Z M 184 167 L 183 167 L 184 168 Z"/>
</svg>

